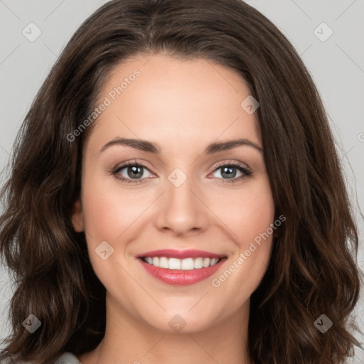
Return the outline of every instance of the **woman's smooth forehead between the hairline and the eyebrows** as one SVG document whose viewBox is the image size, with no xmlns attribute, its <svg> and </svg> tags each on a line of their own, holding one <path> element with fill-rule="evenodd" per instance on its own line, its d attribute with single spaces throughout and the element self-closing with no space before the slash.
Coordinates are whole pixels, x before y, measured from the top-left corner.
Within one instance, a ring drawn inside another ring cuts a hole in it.
<svg viewBox="0 0 364 364">
<path fill-rule="evenodd" d="M 242 102 L 249 87 L 235 71 L 211 60 L 139 55 L 109 73 L 97 105 L 90 144 L 113 137 L 170 142 L 170 149 L 222 139 L 249 138 L 261 146 L 256 114 Z"/>
</svg>

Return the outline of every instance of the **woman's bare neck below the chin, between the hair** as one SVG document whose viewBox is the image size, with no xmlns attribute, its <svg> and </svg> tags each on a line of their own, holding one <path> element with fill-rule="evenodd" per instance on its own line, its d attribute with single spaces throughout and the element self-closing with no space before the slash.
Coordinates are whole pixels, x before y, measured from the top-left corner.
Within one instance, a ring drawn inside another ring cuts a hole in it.
<svg viewBox="0 0 364 364">
<path fill-rule="evenodd" d="M 247 355 L 250 301 L 234 316 L 204 330 L 161 331 L 120 309 L 107 296 L 105 336 L 82 364 L 252 364 Z M 223 314 L 221 315 L 223 316 Z"/>
</svg>

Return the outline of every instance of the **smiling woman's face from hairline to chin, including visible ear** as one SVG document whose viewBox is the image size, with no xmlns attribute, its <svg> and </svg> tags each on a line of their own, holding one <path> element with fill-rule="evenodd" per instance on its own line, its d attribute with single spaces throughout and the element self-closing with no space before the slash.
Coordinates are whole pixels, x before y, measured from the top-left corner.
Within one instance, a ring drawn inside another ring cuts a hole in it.
<svg viewBox="0 0 364 364">
<path fill-rule="evenodd" d="M 109 316 L 192 332 L 249 311 L 274 223 L 249 96 L 239 75 L 204 59 L 156 54 L 113 70 L 73 214 Z"/>
</svg>

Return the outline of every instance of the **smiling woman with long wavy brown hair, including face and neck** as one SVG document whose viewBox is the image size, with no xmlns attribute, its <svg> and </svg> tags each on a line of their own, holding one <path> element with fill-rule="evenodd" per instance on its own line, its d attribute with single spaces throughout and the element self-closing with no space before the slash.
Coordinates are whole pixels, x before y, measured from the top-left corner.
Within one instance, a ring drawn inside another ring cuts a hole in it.
<svg viewBox="0 0 364 364">
<path fill-rule="evenodd" d="M 327 117 L 244 2 L 109 1 L 50 71 L 11 167 L 2 358 L 319 364 L 358 345 Z"/>
</svg>

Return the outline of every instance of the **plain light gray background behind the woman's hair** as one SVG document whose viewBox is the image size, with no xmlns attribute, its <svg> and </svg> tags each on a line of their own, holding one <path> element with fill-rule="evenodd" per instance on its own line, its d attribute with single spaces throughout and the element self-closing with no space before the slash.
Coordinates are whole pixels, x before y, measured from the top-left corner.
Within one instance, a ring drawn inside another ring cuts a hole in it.
<svg viewBox="0 0 364 364">
<path fill-rule="evenodd" d="M 82 21 L 105 2 L 0 0 L 1 171 L 9 160 L 23 117 L 60 50 Z M 247 3 L 289 38 L 319 88 L 358 221 L 358 264 L 364 272 L 364 223 L 359 213 L 360 209 L 364 211 L 364 0 L 250 0 Z M 327 26 L 321 25 L 323 22 Z M 36 28 L 28 26 L 29 23 L 35 23 L 41 30 L 35 41 L 29 41 L 22 33 L 25 29 L 29 36 L 36 34 Z M 330 29 L 333 34 L 328 38 Z M 4 173 L 0 178 L 2 183 Z M 9 332 L 7 307 L 12 290 L 4 267 L 0 266 L 0 274 L 1 339 Z M 363 301 L 361 294 L 357 312 L 364 330 Z M 357 338 L 364 342 L 364 336 L 357 335 Z M 364 363 L 363 350 L 355 348 L 353 363 Z"/>
</svg>

